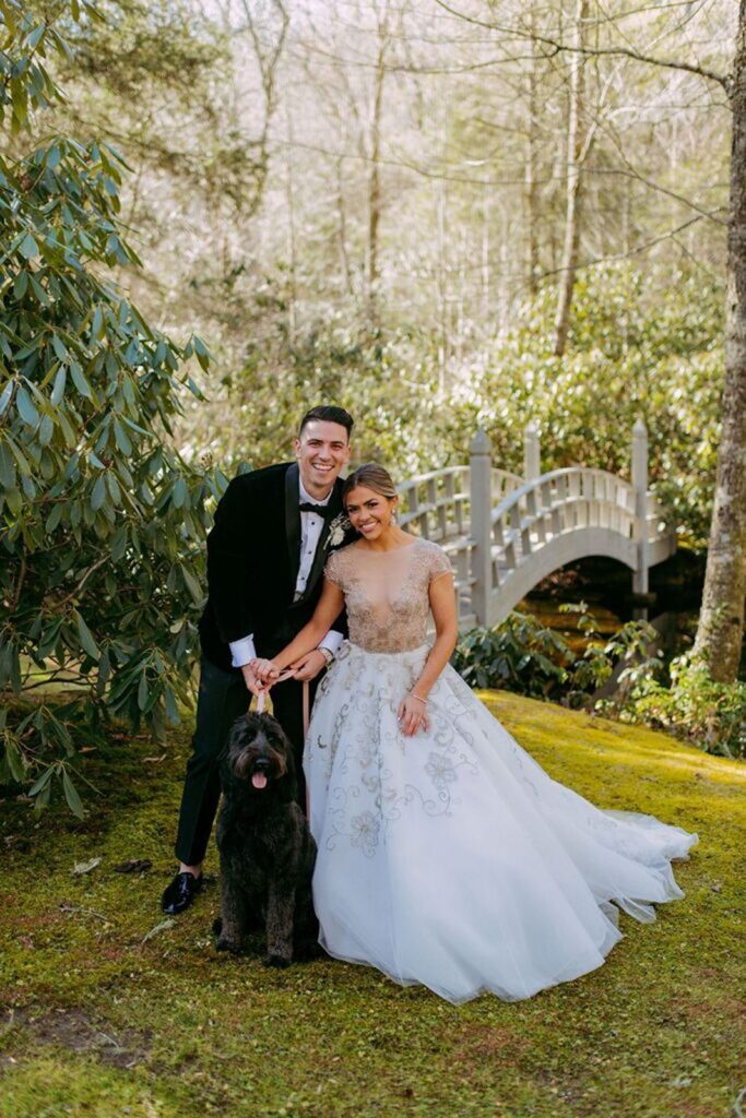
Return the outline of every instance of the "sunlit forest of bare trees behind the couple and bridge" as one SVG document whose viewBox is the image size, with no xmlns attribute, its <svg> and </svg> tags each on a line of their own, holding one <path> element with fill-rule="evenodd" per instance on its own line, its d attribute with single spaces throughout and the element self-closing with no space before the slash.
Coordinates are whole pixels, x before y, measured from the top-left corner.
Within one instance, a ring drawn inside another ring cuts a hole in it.
<svg viewBox="0 0 746 1118">
<path fill-rule="evenodd" d="M 625 472 L 642 416 L 653 489 L 703 548 L 727 101 L 700 74 L 578 61 L 531 34 L 726 70 L 736 6 L 461 10 L 498 8 L 512 38 L 409 0 L 104 4 L 59 127 L 132 168 L 134 302 L 209 343 L 208 399 L 177 427 L 188 457 L 286 457 L 303 407 L 334 399 L 356 457 L 400 477 L 464 462 L 479 426 L 520 471 L 530 419 L 544 468 Z"/>
</svg>

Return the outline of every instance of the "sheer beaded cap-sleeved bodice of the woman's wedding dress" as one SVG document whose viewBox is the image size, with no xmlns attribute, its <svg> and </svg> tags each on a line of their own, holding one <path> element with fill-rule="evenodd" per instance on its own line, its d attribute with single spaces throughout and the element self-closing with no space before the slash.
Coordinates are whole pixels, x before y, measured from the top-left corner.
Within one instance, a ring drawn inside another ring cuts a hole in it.
<svg viewBox="0 0 746 1118">
<path fill-rule="evenodd" d="M 445 551 L 417 537 L 393 551 L 352 543 L 334 551 L 324 569 L 344 595 L 350 641 L 369 652 L 406 652 L 423 645 L 429 585 L 452 574 Z"/>
</svg>

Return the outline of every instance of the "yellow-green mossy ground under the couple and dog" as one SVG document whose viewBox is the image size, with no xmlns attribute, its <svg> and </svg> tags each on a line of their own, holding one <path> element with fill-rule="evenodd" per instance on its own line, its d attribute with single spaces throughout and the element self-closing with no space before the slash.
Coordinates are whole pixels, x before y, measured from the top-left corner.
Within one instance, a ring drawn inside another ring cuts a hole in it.
<svg viewBox="0 0 746 1118">
<path fill-rule="evenodd" d="M 625 938 L 577 982 L 457 1008 L 331 960 L 266 970 L 258 944 L 216 956 L 215 885 L 147 938 L 163 925 L 188 739 L 120 742 L 89 764 L 102 798 L 85 823 L 55 808 L 35 825 L 26 805 L 2 804 L 0 1118 L 728 1115 L 744 1065 L 746 769 L 646 730 L 485 698 L 557 779 L 699 832 L 677 868 L 686 900 L 651 926 L 623 917 Z M 126 859 L 153 868 L 114 872 Z"/>
</svg>

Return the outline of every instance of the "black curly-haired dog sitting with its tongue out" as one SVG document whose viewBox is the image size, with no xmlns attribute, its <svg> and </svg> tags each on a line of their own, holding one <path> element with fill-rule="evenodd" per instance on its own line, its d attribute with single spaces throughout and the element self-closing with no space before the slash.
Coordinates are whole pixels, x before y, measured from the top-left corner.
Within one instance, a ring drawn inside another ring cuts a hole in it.
<svg viewBox="0 0 746 1118">
<path fill-rule="evenodd" d="M 295 802 L 293 749 L 274 718 L 244 714 L 234 722 L 220 778 L 218 951 L 240 950 L 247 928 L 263 921 L 268 966 L 318 954 L 311 899 L 317 846 Z"/>
</svg>

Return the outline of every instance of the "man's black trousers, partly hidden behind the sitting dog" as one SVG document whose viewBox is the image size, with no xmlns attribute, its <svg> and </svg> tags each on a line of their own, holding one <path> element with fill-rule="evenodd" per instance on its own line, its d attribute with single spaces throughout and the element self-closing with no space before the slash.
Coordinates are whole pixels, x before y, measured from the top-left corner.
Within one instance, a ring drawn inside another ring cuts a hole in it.
<svg viewBox="0 0 746 1118">
<path fill-rule="evenodd" d="M 312 680 L 313 702 L 317 680 Z M 225 672 L 202 657 L 197 727 L 192 754 L 187 762 L 187 776 L 181 796 L 176 856 L 185 865 L 199 865 L 213 830 L 220 798 L 219 758 L 234 721 L 248 710 L 252 695 L 240 672 Z M 303 778 L 303 685 L 287 680 L 272 689 L 274 716 L 290 738 L 295 758 L 298 802 L 305 811 Z"/>
</svg>

